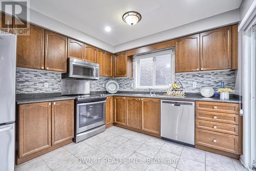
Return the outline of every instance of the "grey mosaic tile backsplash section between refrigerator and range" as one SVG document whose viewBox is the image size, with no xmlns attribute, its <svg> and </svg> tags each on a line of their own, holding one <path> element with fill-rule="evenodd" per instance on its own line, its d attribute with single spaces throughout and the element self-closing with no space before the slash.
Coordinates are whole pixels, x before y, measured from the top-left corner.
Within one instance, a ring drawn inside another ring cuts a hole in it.
<svg viewBox="0 0 256 171">
<path fill-rule="evenodd" d="M 16 94 L 29 93 L 61 93 L 61 73 L 17 68 Z"/>
</svg>

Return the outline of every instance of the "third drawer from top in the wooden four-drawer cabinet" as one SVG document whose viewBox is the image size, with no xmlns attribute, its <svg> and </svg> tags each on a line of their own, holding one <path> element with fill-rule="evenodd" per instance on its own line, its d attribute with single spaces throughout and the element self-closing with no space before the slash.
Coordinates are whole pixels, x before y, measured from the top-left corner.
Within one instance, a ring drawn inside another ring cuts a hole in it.
<svg viewBox="0 0 256 171">
<path fill-rule="evenodd" d="M 238 125 L 196 119 L 196 128 L 214 132 L 238 135 Z"/>
</svg>

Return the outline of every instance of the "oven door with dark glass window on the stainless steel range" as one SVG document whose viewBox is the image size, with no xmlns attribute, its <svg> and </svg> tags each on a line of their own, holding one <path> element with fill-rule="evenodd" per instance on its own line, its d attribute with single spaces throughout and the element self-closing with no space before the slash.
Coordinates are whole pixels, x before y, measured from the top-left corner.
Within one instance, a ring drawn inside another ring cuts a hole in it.
<svg viewBox="0 0 256 171">
<path fill-rule="evenodd" d="M 76 134 L 105 124 L 105 100 L 78 103 L 76 109 Z"/>
</svg>

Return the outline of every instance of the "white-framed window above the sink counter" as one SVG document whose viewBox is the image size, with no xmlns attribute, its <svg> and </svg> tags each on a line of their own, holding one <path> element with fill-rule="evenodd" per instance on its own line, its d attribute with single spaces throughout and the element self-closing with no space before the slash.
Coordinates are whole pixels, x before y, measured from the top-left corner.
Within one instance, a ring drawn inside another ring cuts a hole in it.
<svg viewBox="0 0 256 171">
<path fill-rule="evenodd" d="M 135 56 L 135 88 L 166 89 L 175 79 L 174 49 Z"/>
</svg>

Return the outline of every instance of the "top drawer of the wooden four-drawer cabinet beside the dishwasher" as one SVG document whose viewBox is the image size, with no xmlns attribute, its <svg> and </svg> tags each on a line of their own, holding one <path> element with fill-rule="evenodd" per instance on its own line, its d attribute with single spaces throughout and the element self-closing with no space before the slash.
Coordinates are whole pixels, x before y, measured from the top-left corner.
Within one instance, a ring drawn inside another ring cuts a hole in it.
<svg viewBox="0 0 256 171">
<path fill-rule="evenodd" d="M 238 114 L 239 104 L 197 101 L 196 110 Z"/>
</svg>

